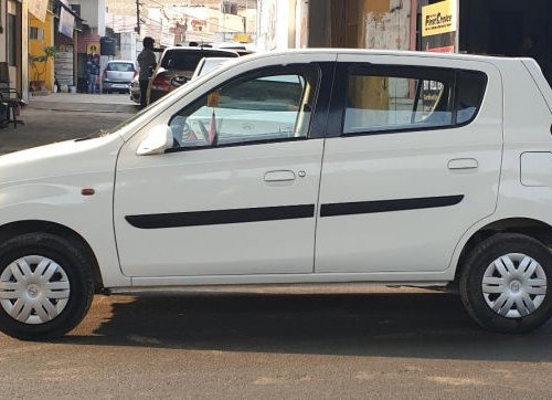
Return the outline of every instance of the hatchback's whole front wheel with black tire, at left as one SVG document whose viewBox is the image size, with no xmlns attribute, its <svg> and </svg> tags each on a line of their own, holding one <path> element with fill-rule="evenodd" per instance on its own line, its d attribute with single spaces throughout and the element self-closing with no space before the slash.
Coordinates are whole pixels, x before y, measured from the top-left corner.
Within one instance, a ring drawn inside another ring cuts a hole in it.
<svg viewBox="0 0 552 400">
<path fill-rule="evenodd" d="M 41 340 L 61 337 L 77 326 L 94 297 L 93 270 L 84 254 L 78 244 L 51 233 L 4 241 L 0 245 L 0 330 Z"/>
</svg>

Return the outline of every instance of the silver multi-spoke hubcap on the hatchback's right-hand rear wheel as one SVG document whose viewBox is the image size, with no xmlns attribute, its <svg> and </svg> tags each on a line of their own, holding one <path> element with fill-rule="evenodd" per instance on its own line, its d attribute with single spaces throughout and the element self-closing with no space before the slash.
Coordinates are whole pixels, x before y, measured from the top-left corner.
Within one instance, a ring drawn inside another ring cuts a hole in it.
<svg viewBox="0 0 552 400">
<path fill-rule="evenodd" d="M 482 295 L 498 315 L 520 318 L 532 314 L 546 296 L 546 274 L 532 257 L 510 253 L 487 266 L 482 278 Z"/>
</svg>

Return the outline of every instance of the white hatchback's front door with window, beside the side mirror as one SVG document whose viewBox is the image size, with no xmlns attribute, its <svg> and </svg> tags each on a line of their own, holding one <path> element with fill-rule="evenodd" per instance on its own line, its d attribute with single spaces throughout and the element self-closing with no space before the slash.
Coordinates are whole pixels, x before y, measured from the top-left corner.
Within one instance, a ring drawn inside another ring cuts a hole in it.
<svg viewBox="0 0 552 400">
<path fill-rule="evenodd" d="M 330 66 L 258 69 L 204 92 L 164 122 L 166 154 L 137 156 L 129 140 L 114 217 L 126 275 L 314 272 L 317 98 Z"/>
</svg>

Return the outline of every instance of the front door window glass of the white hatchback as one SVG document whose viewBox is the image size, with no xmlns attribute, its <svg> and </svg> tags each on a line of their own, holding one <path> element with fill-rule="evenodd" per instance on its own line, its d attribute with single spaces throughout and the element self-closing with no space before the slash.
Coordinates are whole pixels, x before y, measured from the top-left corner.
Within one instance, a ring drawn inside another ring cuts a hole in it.
<svg viewBox="0 0 552 400">
<path fill-rule="evenodd" d="M 319 71 L 312 65 L 236 78 L 171 118 L 176 148 L 305 139 L 318 82 Z"/>
</svg>

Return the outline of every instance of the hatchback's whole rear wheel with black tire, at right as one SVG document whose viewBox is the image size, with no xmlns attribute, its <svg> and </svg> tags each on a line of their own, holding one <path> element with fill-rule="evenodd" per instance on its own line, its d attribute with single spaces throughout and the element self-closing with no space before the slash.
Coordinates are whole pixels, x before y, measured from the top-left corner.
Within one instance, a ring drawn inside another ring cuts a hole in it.
<svg viewBox="0 0 552 400">
<path fill-rule="evenodd" d="M 526 333 L 552 315 L 552 253 L 518 233 L 496 234 L 469 254 L 459 280 L 461 301 L 481 327 Z"/>
</svg>

